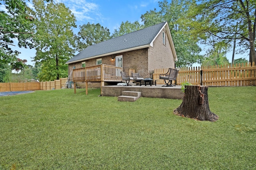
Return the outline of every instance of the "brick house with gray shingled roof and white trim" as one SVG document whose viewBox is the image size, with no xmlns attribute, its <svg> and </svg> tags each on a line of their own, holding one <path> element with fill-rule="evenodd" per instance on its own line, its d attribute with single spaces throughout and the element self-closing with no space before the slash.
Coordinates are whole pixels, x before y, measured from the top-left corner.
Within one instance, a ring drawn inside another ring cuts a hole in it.
<svg viewBox="0 0 256 170">
<path fill-rule="evenodd" d="M 73 68 L 106 64 L 129 68 L 147 77 L 149 70 L 174 68 L 176 51 L 167 22 L 140 29 L 101 43 L 91 45 L 68 60 L 69 73 Z"/>
</svg>

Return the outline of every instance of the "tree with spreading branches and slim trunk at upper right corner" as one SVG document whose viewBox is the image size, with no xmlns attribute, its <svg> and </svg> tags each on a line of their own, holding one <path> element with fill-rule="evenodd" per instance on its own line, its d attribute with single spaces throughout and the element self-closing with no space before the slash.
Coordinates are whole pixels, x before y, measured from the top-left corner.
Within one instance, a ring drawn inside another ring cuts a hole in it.
<svg viewBox="0 0 256 170">
<path fill-rule="evenodd" d="M 254 0 L 202 0 L 194 3 L 191 8 L 190 16 L 196 17 L 196 20 L 190 24 L 197 25 L 194 31 L 198 35 L 204 35 L 205 39 L 210 35 L 219 39 L 237 39 L 243 47 L 240 53 L 250 49 L 250 62 L 256 62 Z"/>
</svg>

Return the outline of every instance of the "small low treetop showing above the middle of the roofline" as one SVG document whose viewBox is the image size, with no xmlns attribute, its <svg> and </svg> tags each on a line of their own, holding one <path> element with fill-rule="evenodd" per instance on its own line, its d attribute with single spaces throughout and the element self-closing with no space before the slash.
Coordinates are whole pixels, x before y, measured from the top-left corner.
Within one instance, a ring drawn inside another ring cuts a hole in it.
<svg viewBox="0 0 256 170">
<path fill-rule="evenodd" d="M 133 23 L 126 21 L 122 22 L 118 30 L 115 29 L 112 37 L 118 37 L 127 33 L 131 33 L 134 31 L 138 31 L 139 29 L 142 29 L 144 26 L 140 25 L 138 21 L 134 21 Z"/>
</svg>

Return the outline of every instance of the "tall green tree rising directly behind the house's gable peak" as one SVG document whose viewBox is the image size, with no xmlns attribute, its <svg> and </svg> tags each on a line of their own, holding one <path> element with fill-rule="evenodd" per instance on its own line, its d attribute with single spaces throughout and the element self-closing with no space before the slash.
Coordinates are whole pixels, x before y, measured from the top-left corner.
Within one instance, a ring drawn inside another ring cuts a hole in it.
<svg viewBox="0 0 256 170">
<path fill-rule="evenodd" d="M 192 66 L 194 63 L 201 63 L 203 57 L 199 54 L 201 51 L 197 44 L 199 39 L 190 32 L 190 25 L 186 24 L 189 3 L 186 0 L 172 0 L 170 4 L 167 0 L 163 0 L 158 3 L 160 11 L 150 10 L 141 16 L 145 27 L 168 21 L 178 57 L 176 66 Z"/>
</svg>

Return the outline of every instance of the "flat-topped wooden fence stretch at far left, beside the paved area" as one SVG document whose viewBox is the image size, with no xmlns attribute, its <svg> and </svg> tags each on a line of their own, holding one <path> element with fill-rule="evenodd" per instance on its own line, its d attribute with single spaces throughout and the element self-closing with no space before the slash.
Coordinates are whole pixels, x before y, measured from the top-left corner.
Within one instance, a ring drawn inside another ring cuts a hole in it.
<svg viewBox="0 0 256 170">
<path fill-rule="evenodd" d="M 39 82 L 0 83 L 0 92 L 40 90 Z"/>
</svg>

